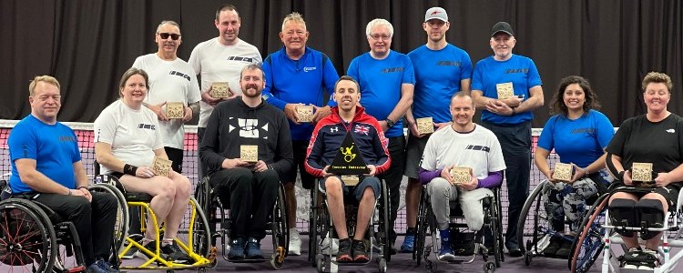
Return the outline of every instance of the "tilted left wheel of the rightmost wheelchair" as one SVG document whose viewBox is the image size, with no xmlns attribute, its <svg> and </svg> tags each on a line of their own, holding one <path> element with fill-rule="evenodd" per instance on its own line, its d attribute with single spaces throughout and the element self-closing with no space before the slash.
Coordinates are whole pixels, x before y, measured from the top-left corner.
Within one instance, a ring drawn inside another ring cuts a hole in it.
<svg viewBox="0 0 683 273">
<path fill-rule="evenodd" d="M 572 272 L 587 272 L 605 247 L 605 242 L 602 240 L 605 228 L 602 224 L 605 223 L 608 197 L 609 195 L 598 197 L 581 221 L 579 227 L 583 229 L 580 234 L 576 234 L 571 248 L 572 255 L 569 256 L 569 269 Z"/>
</svg>

